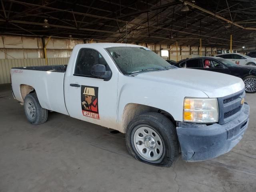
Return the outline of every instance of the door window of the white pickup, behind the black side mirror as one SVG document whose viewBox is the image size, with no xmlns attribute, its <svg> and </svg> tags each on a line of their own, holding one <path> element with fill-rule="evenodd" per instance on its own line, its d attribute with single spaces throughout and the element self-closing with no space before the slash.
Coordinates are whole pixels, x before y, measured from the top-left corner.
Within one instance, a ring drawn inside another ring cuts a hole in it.
<svg viewBox="0 0 256 192">
<path fill-rule="evenodd" d="M 82 48 L 78 52 L 74 75 L 97 78 L 96 76 L 92 76 L 91 68 L 98 64 L 105 65 L 108 68 L 107 62 L 98 51 Z"/>
</svg>

